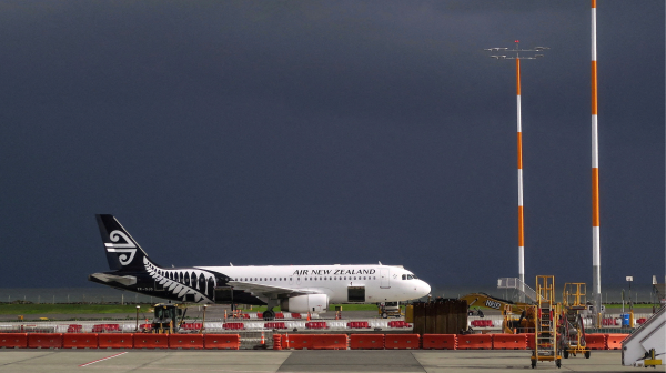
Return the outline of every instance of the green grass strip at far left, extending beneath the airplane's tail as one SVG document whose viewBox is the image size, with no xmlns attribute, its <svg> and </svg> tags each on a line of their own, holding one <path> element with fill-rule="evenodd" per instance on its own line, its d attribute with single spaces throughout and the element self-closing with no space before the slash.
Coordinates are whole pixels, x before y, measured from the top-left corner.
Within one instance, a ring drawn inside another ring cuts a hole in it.
<svg viewBox="0 0 666 373">
<path fill-rule="evenodd" d="M 142 304 L 139 312 L 148 312 L 151 308 Z M 134 304 L 0 304 L 0 314 L 105 314 L 105 313 L 135 313 Z"/>
</svg>

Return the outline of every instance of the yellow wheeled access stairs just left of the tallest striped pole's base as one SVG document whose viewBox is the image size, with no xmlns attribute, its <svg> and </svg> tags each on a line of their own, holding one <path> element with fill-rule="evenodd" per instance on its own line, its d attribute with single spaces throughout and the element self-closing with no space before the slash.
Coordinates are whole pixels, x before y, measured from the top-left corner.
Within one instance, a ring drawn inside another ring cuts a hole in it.
<svg viewBox="0 0 666 373">
<path fill-rule="evenodd" d="M 591 350 L 585 344 L 585 326 L 581 311 L 585 310 L 585 291 L 584 283 L 566 283 L 562 293 L 562 324 L 559 326 L 559 341 L 564 359 L 568 359 L 569 354 L 585 355 L 589 359 Z"/>
</svg>

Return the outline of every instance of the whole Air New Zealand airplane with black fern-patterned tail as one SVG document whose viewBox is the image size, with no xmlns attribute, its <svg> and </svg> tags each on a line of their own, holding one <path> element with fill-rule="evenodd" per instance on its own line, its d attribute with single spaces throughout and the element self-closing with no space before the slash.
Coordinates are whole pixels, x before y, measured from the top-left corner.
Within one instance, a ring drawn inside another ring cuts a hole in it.
<svg viewBox="0 0 666 373">
<path fill-rule="evenodd" d="M 420 299 L 431 286 L 402 265 L 249 265 L 165 268 L 153 262 L 120 222 L 97 221 L 110 272 L 88 280 L 139 294 L 199 304 L 268 305 L 297 313 L 323 313 L 329 303 L 384 303 Z"/>
</svg>

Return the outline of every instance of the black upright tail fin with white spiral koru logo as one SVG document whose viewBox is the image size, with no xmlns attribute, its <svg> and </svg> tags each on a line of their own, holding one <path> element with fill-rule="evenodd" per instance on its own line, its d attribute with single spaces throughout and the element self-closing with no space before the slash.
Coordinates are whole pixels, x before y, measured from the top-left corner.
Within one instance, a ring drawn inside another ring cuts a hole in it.
<svg viewBox="0 0 666 373">
<path fill-rule="evenodd" d="M 143 262 L 144 260 L 150 262 L 150 259 L 120 222 L 113 215 L 95 216 L 107 250 L 109 268 L 121 272 L 145 271 Z"/>
</svg>

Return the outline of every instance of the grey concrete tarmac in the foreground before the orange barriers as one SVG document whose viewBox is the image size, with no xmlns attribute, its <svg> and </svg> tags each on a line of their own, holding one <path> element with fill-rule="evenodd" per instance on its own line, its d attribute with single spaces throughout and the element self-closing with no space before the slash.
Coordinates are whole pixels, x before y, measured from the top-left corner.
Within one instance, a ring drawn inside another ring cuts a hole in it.
<svg viewBox="0 0 666 373">
<path fill-rule="evenodd" d="M 148 351 L 0 350 L 0 372 L 515 372 L 529 370 L 529 351 Z M 541 372 L 638 372 L 619 351 L 563 360 Z M 658 366 L 656 371 L 666 371 Z"/>
</svg>

